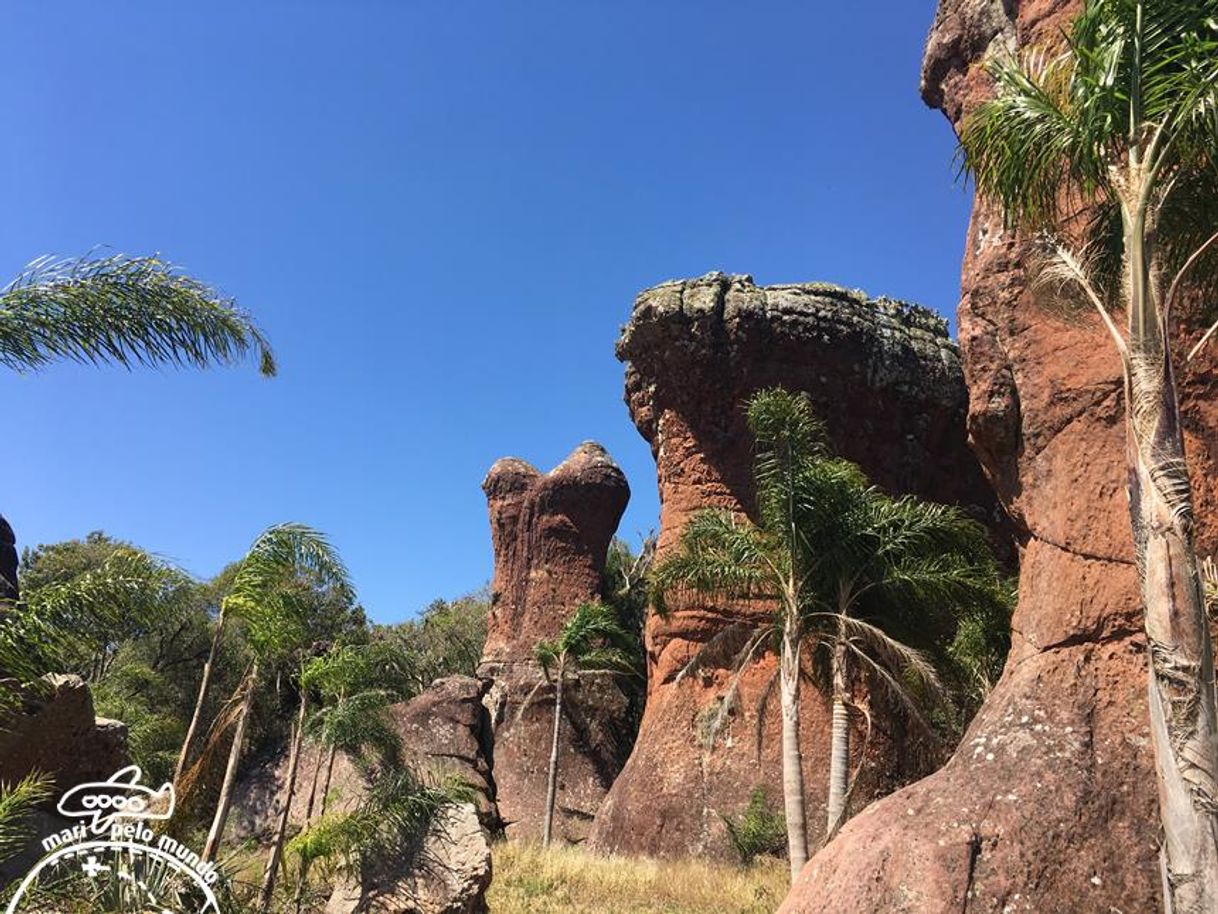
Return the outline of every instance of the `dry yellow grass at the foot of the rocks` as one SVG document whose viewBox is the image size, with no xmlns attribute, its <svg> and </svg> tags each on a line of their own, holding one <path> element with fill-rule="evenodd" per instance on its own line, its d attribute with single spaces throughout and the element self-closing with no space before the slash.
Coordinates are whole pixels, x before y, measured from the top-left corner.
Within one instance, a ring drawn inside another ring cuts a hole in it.
<svg viewBox="0 0 1218 914">
<path fill-rule="evenodd" d="M 501 842 L 487 901 L 491 914 L 771 914 L 787 880 L 784 860 L 743 869 Z"/>
</svg>

